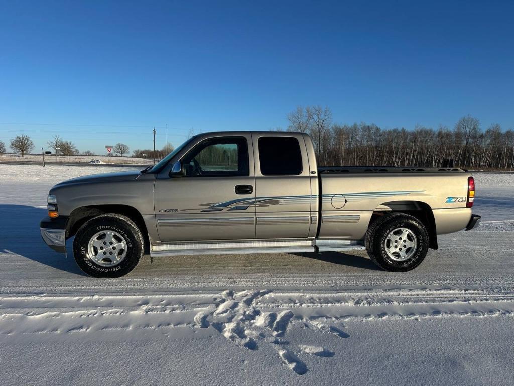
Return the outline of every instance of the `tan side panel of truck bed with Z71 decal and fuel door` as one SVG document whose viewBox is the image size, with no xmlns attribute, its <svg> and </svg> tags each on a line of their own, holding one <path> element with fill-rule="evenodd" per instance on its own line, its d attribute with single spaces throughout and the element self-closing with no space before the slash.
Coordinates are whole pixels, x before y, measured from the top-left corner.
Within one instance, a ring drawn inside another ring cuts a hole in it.
<svg viewBox="0 0 514 386">
<path fill-rule="evenodd" d="M 466 172 L 321 174 L 320 238 L 363 239 L 375 210 L 401 211 L 410 205 L 432 209 L 436 233 L 464 229 Z"/>
</svg>

